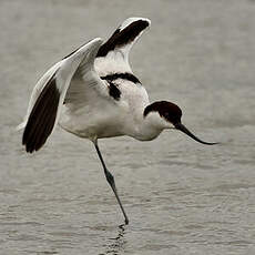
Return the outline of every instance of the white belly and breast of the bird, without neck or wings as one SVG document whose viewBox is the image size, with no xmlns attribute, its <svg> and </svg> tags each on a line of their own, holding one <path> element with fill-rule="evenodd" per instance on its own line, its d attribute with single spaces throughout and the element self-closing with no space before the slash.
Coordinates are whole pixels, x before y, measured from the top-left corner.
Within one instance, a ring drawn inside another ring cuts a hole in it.
<svg viewBox="0 0 255 255">
<path fill-rule="evenodd" d="M 102 96 L 100 100 L 88 96 L 86 103 L 81 108 L 63 105 L 60 125 L 78 136 L 90 140 L 119 135 L 144 140 L 147 135 L 143 129 L 143 111 L 149 104 L 147 93 L 141 84 L 130 81 L 119 83 L 120 101 L 115 102 L 110 96 Z"/>
</svg>

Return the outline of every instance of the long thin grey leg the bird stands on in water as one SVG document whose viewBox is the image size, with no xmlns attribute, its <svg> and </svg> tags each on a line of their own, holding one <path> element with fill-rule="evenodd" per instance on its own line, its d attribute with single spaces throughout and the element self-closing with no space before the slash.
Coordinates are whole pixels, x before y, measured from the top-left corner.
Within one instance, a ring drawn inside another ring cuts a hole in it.
<svg viewBox="0 0 255 255">
<path fill-rule="evenodd" d="M 120 197 L 118 195 L 116 186 L 115 186 L 115 182 L 114 182 L 114 176 L 109 172 L 109 170 L 106 169 L 106 165 L 104 164 L 102 154 L 101 154 L 101 152 L 99 150 L 98 141 L 94 142 L 94 146 L 95 146 L 95 150 L 98 152 L 99 159 L 100 159 L 100 161 L 101 161 L 101 163 L 103 165 L 103 171 L 104 171 L 105 177 L 108 180 L 108 183 L 110 184 L 110 186 L 112 187 L 112 191 L 115 194 L 116 201 L 118 201 L 119 205 L 121 206 L 121 211 L 122 211 L 122 213 L 123 213 L 123 215 L 125 217 L 125 224 L 128 225 L 129 224 L 129 218 L 128 218 L 128 216 L 125 214 L 125 211 L 124 211 L 124 208 L 122 206 L 121 200 L 120 200 Z"/>
</svg>

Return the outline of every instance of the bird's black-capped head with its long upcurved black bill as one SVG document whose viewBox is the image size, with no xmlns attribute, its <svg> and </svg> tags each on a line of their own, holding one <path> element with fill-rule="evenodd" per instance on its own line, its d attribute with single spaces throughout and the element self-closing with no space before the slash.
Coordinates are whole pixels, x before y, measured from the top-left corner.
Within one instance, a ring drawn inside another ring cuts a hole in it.
<svg viewBox="0 0 255 255">
<path fill-rule="evenodd" d="M 184 124 L 182 124 L 182 110 L 174 103 L 167 101 L 157 101 L 147 105 L 144 110 L 144 118 L 150 115 L 150 113 L 156 113 L 160 116 L 160 125 L 163 129 L 175 129 L 178 130 L 196 142 L 213 145 L 217 143 L 204 142 L 201 139 L 196 137 Z"/>
</svg>

